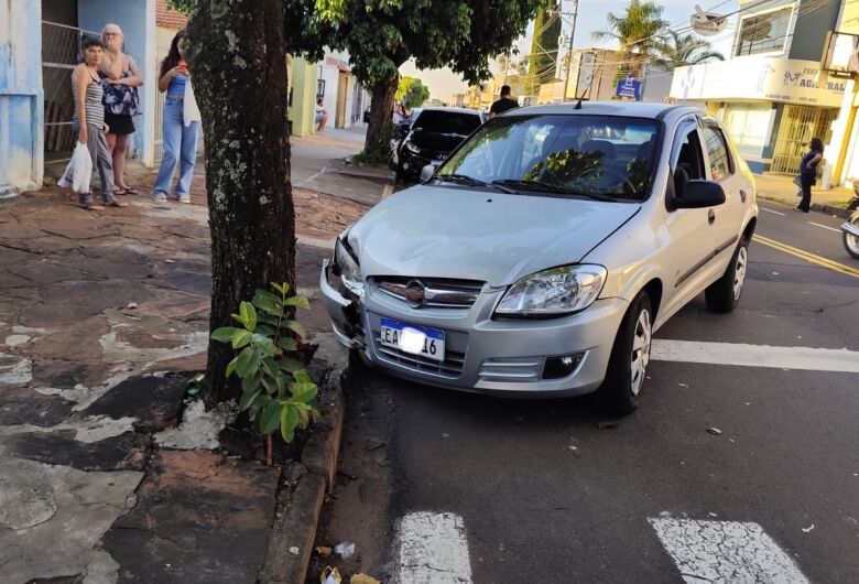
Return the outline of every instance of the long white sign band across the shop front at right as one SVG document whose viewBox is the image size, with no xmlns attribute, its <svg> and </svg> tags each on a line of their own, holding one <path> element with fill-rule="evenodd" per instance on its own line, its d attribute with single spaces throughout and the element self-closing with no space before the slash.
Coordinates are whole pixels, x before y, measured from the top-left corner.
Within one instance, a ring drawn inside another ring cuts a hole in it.
<svg viewBox="0 0 859 584">
<path fill-rule="evenodd" d="M 739 57 L 677 67 L 671 97 L 684 100 L 765 100 L 840 107 L 845 80 L 820 72 L 815 61 Z"/>
</svg>

